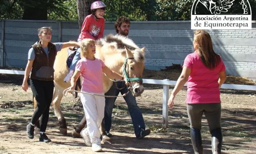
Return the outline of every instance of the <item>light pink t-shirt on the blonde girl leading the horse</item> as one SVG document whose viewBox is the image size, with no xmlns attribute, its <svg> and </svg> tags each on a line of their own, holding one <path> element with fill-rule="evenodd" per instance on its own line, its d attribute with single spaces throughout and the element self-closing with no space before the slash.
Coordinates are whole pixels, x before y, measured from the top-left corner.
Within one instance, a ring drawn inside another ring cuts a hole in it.
<svg viewBox="0 0 256 154">
<path fill-rule="evenodd" d="M 105 64 L 102 60 L 95 58 L 95 60 L 88 60 L 82 58 L 76 64 L 76 71 L 81 71 L 83 76 L 82 91 L 102 93 L 102 68 Z"/>
</svg>

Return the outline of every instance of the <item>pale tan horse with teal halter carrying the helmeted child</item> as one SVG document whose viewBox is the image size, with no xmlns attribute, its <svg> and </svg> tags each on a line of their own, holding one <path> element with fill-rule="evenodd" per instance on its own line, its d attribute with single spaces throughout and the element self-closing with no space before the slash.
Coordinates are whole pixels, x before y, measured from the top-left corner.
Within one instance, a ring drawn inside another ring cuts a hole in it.
<svg viewBox="0 0 256 154">
<path fill-rule="evenodd" d="M 123 74 L 129 83 L 130 91 L 135 97 L 140 96 L 144 91 L 142 85 L 142 73 L 145 68 L 145 48 L 139 48 L 133 40 L 120 35 L 109 34 L 106 37 L 96 40 L 95 57 L 100 58 L 109 69 Z M 71 84 L 63 81 L 69 68 L 66 66 L 67 48 L 57 53 L 54 64 L 54 94 L 52 106 L 55 116 L 59 121 L 59 131 L 63 135 L 67 135 L 67 126 L 64 115 L 62 114 L 60 103 L 63 97 L 63 92 Z M 129 78 L 131 77 L 131 78 Z M 107 92 L 113 80 L 110 80 L 105 74 L 103 76 L 104 92 Z M 35 101 L 35 100 L 34 100 Z M 34 108 L 36 106 L 34 105 Z M 80 131 L 86 124 L 86 119 L 83 117 L 76 129 L 73 129 L 72 136 L 76 138 L 80 136 Z M 37 125 L 38 126 L 38 125 Z M 104 134 L 104 126 L 101 126 L 101 135 Z"/>
</svg>

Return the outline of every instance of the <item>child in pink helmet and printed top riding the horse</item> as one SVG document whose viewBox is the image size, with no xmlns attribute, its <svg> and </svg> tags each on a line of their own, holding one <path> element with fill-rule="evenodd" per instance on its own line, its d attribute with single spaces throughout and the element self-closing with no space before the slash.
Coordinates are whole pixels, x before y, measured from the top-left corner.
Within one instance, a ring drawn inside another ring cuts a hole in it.
<svg viewBox="0 0 256 154">
<path fill-rule="evenodd" d="M 106 5 L 98 0 L 92 2 L 91 4 L 91 11 L 92 14 L 85 17 L 83 21 L 83 25 L 81 28 L 81 33 L 78 37 L 78 42 L 82 41 L 83 39 L 100 39 L 103 37 L 104 34 L 104 27 L 105 27 L 105 19 L 103 18 Z M 69 67 L 70 71 L 64 78 L 64 82 L 69 82 L 71 79 L 76 63 L 80 60 L 80 48 L 76 51 L 76 55 L 73 57 L 72 63 Z"/>
</svg>

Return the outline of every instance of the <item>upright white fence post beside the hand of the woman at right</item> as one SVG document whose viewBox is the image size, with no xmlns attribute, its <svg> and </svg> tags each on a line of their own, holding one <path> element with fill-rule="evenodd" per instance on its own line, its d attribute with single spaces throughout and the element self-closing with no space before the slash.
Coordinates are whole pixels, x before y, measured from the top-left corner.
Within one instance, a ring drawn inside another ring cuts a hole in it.
<svg viewBox="0 0 256 154">
<path fill-rule="evenodd" d="M 168 79 L 164 79 L 168 80 Z M 165 125 L 166 128 L 168 128 L 168 99 L 169 99 L 169 85 L 163 86 L 163 122 L 162 124 Z"/>
</svg>

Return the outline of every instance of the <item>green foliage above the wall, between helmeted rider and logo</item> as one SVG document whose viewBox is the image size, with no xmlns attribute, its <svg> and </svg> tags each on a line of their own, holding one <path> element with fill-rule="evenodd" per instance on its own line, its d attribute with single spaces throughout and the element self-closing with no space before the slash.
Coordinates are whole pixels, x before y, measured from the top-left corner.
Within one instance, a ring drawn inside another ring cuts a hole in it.
<svg viewBox="0 0 256 154">
<path fill-rule="evenodd" d="M 190 20 L 193 0 L 105 0 L 107 21 L 125 15 L 134 21 Z"/>
</svg>

